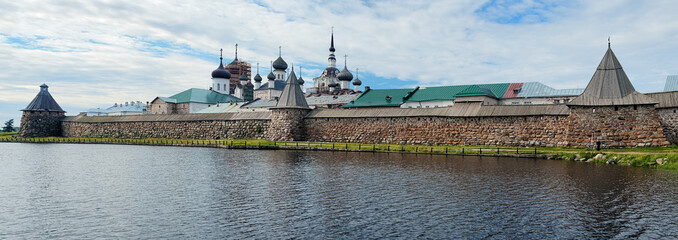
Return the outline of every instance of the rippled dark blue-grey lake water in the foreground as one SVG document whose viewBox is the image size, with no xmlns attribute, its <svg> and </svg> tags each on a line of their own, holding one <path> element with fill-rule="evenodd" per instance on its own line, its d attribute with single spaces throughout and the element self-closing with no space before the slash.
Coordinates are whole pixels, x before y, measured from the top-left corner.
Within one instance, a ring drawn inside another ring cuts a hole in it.
<svg viewBox="0 0 678 240">
<path fill-rule="evenodd" d="M 0 239 L 678 237 L 678 173 L 543 159 L 0 143 Z"/>
</svg>

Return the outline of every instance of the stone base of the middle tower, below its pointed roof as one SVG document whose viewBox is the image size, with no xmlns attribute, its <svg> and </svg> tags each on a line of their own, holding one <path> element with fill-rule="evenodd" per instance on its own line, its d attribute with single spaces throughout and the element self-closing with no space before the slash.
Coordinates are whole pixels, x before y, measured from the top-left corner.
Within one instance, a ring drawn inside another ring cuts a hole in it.
<svg viewBox="0 0 678 240">
<path fill-rule="evenodd" d="M 306 140 L 304 116 L 310 109 L 286 108 L 271 111 L 271 125 L 268 139 L 271 141 Z"/>
</svg>

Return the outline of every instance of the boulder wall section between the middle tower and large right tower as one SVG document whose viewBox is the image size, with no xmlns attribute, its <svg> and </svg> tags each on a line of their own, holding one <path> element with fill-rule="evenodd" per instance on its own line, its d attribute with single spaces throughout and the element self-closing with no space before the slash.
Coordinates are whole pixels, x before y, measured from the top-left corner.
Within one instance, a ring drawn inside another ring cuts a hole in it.
<svg viewBox="0 0 678 240">
<path fill-rule="evenodd" d="M 311 141 L 566 146 L 567 116 L 308 118 Z"/>
</svg>

